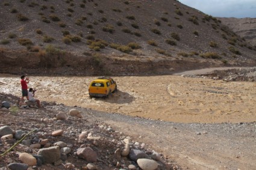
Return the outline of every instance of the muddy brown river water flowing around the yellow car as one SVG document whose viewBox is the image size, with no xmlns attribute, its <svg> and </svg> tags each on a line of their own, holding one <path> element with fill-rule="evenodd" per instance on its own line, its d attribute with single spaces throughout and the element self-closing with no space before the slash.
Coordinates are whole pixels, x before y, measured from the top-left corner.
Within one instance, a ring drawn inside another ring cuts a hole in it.
<svg viewBox="0 0 256 170">
<path fill-rule="evenodd" d="M 256 83 L 182 76 L 113 77 L 117 93 L 90 99 L 96 77 L 30 76 L 39 100 L 179 123 L 256 121 Z M 0 92 L 21 95 L 20 77 L 0 74 Z"/>
</svg>

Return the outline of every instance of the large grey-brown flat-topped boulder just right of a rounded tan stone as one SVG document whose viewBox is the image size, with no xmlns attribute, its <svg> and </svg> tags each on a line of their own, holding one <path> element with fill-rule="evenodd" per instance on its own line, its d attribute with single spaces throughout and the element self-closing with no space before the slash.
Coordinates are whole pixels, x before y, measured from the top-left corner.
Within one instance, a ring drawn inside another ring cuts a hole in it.
<svg viewBox="0 0 256 170">
<path fill-rule="evenodd" d="M 37 154 L 42 155 L 46 163 L 54 163 L 60 159 L 60 147 L 42 148 Z"/>
</svg>

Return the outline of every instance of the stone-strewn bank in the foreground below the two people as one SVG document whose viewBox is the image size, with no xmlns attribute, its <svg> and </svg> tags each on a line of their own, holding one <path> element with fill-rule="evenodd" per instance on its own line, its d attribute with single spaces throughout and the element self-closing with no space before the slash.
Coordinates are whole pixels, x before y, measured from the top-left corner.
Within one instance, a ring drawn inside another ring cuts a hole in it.
<svg viewBox="0 0 256 170">
<path fill-rule="evenodd" d="M 95 111 L 46 102 L 42 109 L 19 108 L 17 97 L 2 93 L 0 100 L 11 105 L 0 108 L 1 154 L 20 142 L 1 155 L 1 169 L 178 169 L 145 143 L 94 117 Z"/>
</svg>

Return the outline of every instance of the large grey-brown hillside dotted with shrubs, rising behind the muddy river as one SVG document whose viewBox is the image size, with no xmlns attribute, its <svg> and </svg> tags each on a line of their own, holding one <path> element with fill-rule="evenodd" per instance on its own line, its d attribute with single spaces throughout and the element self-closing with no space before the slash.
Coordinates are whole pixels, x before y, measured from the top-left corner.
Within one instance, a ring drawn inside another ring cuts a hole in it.
<svg viewBox="0 0 256 170">
<path fill-rule="evenodd" d="M 2 73 L 169 74 L 256 61 L 246 38 L 174 0 L 13 0 L 0 8 Z"/>
</svg>

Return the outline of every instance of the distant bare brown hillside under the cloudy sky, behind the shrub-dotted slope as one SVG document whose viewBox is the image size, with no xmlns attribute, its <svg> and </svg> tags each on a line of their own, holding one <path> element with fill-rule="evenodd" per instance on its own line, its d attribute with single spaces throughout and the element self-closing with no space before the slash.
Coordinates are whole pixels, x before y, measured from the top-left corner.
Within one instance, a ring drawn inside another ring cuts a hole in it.
<svg viewBox="0 0 256 170">
<path fill-rule="evenodd" d="M 218 18 L 222 23 L 229 28 L 231 28 L 236 34 L 240 37 L 245 38 L 246 41 L 249 41 L 252 45 L 256 46 L 256 18 L 242 18 L 237 19 L 234 17 Z"/>
</svg>

